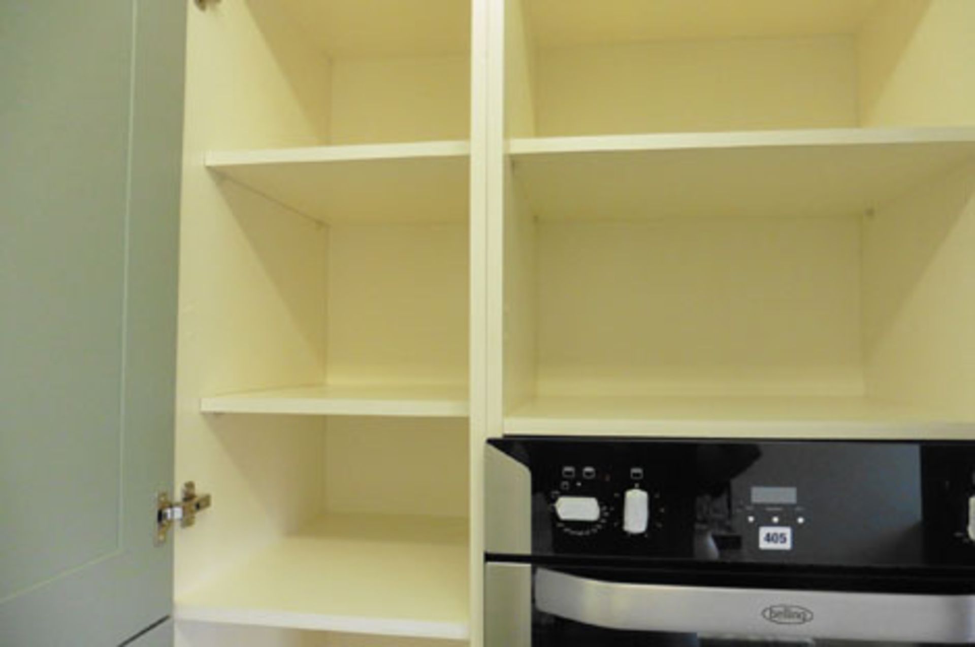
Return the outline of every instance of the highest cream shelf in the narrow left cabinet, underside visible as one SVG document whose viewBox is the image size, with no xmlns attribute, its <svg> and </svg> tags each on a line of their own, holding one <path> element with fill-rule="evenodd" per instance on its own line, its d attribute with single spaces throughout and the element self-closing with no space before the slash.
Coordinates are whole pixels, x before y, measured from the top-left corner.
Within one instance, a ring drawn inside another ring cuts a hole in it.
<svg viewBox="0 0 975 647">
<path fill-rule="evenodd" d="M 208 169 L 323 222 L 463 222 L 466 141 L 212 152 Z"/>
</svg>

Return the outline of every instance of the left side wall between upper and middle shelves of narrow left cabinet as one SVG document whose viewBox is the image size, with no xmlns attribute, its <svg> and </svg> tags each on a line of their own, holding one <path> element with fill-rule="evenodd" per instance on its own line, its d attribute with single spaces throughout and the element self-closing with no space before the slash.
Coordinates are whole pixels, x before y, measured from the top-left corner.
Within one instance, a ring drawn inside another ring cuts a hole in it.
<svg viewBox="0 0 975 647">
<path fill-rule="evenodd" d="M 195 322 L 187 343 L 205 358 L 202 394 L 319 383 L 327 229 L 206 171 L 194 175 L 183 305 L 187 325 Z"/>
</svg>

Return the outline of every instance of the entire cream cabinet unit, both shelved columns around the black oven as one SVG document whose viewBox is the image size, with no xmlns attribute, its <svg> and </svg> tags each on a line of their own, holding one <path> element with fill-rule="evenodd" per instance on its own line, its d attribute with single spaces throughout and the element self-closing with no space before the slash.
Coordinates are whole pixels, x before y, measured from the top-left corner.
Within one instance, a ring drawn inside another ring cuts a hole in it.
<svg viewBox="0 0 975 647">
<path fill-rule="evenodd" d="M 482 644 L 488 437 L 975 438 L 975 3 L 187 12 L 177 644 Z"/>
</svg>

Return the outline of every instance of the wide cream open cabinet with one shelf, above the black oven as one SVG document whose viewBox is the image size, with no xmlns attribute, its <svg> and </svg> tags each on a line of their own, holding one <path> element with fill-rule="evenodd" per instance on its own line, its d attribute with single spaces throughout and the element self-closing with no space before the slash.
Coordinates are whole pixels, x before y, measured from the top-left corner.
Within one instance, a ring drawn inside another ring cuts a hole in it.
<svg viewBox="0 0 975 647">
<path fill-rule="evenodd" d="M 970 436 L 975 7 L 786 4 L 497 9 L 495 428 Z"/>
</svg>

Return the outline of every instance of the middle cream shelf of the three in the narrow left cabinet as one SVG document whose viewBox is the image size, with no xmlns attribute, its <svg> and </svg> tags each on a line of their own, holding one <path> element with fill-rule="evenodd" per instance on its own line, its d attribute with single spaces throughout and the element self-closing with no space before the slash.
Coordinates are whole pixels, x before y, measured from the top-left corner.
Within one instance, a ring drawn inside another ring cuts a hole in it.
<svg viewBox="0 0 975 647">
<path fill-rule="evenodd" d="M 297 387 L 229 394 L 200 401 L 204 413 L 466 417 L 462 387 Z"/>
</svg>

